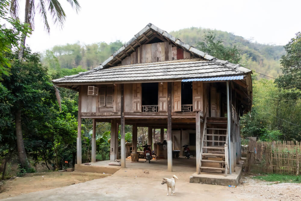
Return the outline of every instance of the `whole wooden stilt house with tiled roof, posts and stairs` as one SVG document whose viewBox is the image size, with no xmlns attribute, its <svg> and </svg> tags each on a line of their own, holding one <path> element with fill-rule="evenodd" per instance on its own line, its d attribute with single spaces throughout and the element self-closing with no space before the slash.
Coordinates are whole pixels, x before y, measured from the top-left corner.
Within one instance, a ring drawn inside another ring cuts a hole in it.
<svg viewBox="0 0 301 201">
<path fill-rule="evenodd" d="M 231 174 L 240 159 L 240 116 L 252 105 L 251 73 L 148 24 L 97 68 L 53 83 L 79 92 L 77 164 L 82 162 L 81 119 L 92 118 L 92 162 L 96 122 L 110 122 L 110 160 L 117 157 L 119 124 L 123 168 L 125 125 L 133 125 L 132 152 L 137 127 L 150 128 L 149 144 L 152 128 L 167 129 L 168 171 L 172 149 L 189 144 L 198 173 Z"/>
</svg>

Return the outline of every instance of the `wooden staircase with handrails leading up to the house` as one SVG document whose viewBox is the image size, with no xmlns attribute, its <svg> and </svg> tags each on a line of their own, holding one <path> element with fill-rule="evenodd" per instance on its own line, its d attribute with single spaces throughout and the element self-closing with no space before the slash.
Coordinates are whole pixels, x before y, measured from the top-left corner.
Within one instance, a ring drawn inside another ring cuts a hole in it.
<svg viewBox="0 0 301 201">
<path fill-rule="evenodd" d="M 200 171 L 222 171 L 228 174 L 227 118 L 206 117 L 200 151 Z"/>
</svg>

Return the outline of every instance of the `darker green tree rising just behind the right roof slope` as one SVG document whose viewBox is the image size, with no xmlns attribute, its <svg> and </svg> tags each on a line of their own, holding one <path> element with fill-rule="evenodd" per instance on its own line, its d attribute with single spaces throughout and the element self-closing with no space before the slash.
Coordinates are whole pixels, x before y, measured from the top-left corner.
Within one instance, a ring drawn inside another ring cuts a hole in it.
<svg viewBox="0 0 301 201">
<path fill-rule="evenodd" d="M 237 46 L 225 47 L 222 40 L 216 40 L 215 38 L 216 35 L 209 31 L 204 35 L 203 41 L 197 43 L 198 48 L 218 59 L 227 60 L 234 64 L 239 63 L 241 55 Z"/>
</svg>

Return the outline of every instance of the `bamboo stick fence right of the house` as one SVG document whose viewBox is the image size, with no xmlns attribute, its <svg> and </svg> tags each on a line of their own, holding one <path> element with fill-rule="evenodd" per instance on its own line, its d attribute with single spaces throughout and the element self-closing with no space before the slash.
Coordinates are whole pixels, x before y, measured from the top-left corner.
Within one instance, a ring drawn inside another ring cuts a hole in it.
<svg viewBox="0 0 301 201">
<path fill-rule="evenodd" d="M 293 141 L 249 141 L 247 172 L 299 175 L 301 145 Z"/>
</svg>

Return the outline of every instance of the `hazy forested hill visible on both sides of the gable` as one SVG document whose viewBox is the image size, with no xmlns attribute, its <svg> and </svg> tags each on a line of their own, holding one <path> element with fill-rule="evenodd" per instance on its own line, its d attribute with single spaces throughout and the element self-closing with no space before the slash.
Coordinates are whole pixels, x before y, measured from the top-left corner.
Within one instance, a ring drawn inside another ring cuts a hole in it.
<svg viewBox="0 0 301 201">
<path fill-rule="evenodd" d="M 244 67 L 272 77 L 277 77 L 278 74 L 281 74 L 279 59 L 281 55 L 285 54 L 283 46 L 259 44 L 225 31 L 196 27 L 172 31 L 170 34 L 181 39 L 183 42 L 197 47 L 197 42 L 202 41 L 204 34 L 208 31 L 216 34 L 216 39 L 222 40 L 225 46 L 233 47 L 236 45 L 242 54 L 240 64 Z M 122 45 L 123 42 L 115 41 L 110 44 L 99 42 L 90 45 L 81 45 L 78 42 L 75 44 L 54 46 L 42 54 L 42 61 L 48 66 L 50 71 L 61 68 L 79 68 L 79 70 L 83 68 L 90 70 L 97 67 Z"/>
</svg>

